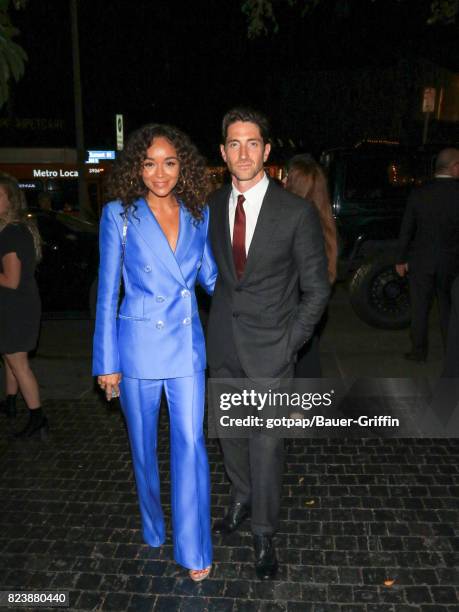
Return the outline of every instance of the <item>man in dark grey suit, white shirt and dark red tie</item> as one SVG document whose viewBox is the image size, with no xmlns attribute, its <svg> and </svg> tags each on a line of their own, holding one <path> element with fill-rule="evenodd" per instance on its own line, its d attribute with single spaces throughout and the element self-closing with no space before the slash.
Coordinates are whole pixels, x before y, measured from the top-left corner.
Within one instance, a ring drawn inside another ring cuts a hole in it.
<svg viewBox="0 0 459 612">
<path fill-rule="evenodd" d="M 312 204 L 268 179 L 268 123 L 234 109 L 223 119 L 221 154 L 232 177 L 210 199 L 210 236 L 219 276 L 207 327 L 214 378 L 291 378 L 298 349 L 312 336 L 330 285 L 324 240 Z M 251 516 L 256 571 L 277 572 L 283 440 L 260 432 L 222 438 L 232 502 L 216 533 Z"/>
</svg>

